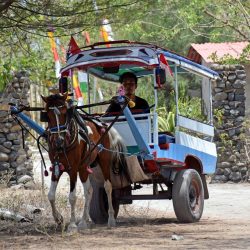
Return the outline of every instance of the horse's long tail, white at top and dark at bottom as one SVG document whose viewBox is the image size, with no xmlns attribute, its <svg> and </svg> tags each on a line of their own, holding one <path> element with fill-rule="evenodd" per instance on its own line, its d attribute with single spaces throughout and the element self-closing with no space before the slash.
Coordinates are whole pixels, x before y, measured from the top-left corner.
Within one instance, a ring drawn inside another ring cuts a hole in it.
<svg viewBox="0 0 250 250">
<path fill-rule="evenodd" d="M 130 181 L 126 162 L 127 148 L 122 137 L 115 128 L 109 130 L 110 149 L 112 151 L 112 171 L 116 175 L 124 174 Z"/>
</svg>

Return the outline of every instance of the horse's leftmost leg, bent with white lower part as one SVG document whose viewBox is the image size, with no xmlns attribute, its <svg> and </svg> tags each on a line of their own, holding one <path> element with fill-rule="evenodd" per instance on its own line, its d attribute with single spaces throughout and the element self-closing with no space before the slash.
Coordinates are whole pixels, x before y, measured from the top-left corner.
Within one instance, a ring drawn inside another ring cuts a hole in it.
<svg viewBox="0 0 250 250">
<path fill-rule="evenodd" d="M 58 178 L 59 181 L 60 177 Z M 60 225 L 63 223 L 63 217 L 62 215 L 58 212 L 58 210 L 56 209 L 56 188 L 57 188 L 57 184 L 58 181 L 55 180 L 53 177 L 51 178 L 51 183 L 50 183 L 50 189 L 49 189 L 49 193 L 48 193 L 48 199 L 50 201 L 50 205 L 52 208 L 52 214 L 53 217 L 55 219 L 55 222 Z"/>
</svg>

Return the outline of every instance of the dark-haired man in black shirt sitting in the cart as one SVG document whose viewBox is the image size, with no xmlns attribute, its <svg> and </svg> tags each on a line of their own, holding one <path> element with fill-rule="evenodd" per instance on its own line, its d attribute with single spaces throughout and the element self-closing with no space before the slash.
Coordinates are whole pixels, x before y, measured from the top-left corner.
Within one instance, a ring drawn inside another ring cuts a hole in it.
<svg viewBox="0 0 250 250">
<path fill-rule="evenodd" d="M 149 113 L 148 102 L 135 95 L 135 90 L 137 88 L 137 77 L 131 72 L 126 72 L 120 76 L 120 83 L 124 86 L 125 96 L 135 103 L 134 107 L 129 107 L 133 112 Z M 117 113 L 121 111 L 121 107 L 118 103 L 111 103 L 108 107 L 106 113 Z"/>
</svg>

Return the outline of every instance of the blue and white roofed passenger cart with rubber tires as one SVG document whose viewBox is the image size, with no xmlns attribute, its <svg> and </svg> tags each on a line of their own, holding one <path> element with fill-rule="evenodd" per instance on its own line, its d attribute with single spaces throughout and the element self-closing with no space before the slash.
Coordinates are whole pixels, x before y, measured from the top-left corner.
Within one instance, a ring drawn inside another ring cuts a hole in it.
<svg viewBox="0 0 250 250">
<path fill-rule="evenodd" d="M 214 173 L 216 168 L 216 147 L 212 142 L 214 129 L 211 80 L 216 79 L 218 74 L 151 44 L 117 41 L 111 42 L 112 47 L 103 45 L 106 44 L 94 44 L 78 53 L 72 53 L 61 71 L 62 77 L 69 77 L 77 69 L 114 83 L 119 82 L 119 77 L 124 72 L 132 72 L 138 79 L 152 80 L 154 96 L 150 112 L 131 113 L 124 106 L 126 98 L 120 95 L 115 101 L 121 105 L 123 114 L 98 117 L 99 122 L 112 124 L 127 147 L 127 151 L 120 154 L 126 158 L 129 180 L 126 183 L 124 178 L 118 177 L 117 182 L 117 176 L 113 176 L 114 182 L 116 180 L 114 184 L 111 178 L 115 217 L 120 204 L 131 204 L 133 200 L 172 199 L 180 222 L 199 221 L 204 199 L 209 198 L 205 176 Z M 171 71 L 172 79 L 166 75 L 171 74 Z M 188 74 L 189 81 L 197 83 L 197 79 L 191 75 L 199 78 L 202 87 L 200 102 L 206 122 L 204 119 L 197 121 L 195 117 L 186 117 L 180 113 L 178 79 L 179 75 L 182 79 L 185 74 Z M 145 81 L 142 84 L 144 83 Z M 157 103 L 160 91 L 172 91 L 175 94 L 174 131 L 158 131 Z M 99 152 L 107 150 L 101 146 L 102 143 L 96 146 Z M 108 199 L 100 168 L 98 164 L 92 164 L 92 167 L 94 173 L 90 175 L 93 186 L 90 217 L 94 222 L 103 223 L 108 220 Z M 133 193 L 144 185 L 151 185 L 152 192 L 140 195 Z"/>
</svg>

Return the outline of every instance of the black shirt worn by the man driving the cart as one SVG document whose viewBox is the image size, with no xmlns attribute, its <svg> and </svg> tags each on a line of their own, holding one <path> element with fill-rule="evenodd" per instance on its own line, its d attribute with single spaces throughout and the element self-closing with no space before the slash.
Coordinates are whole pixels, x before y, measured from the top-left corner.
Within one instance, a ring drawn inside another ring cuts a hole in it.
<svg viewBox="0 0 250 250">
<path fill-rule="evenodd" d="M 129 106 L 128 106 L 129 107 Z M 129 109 L 133 112 L 136 110 L 141 110 L 143 113 L 149 113 L 149 105 L 148 102 L 138 96 L 135 96 L 135 106 L 133 108 Z M 106 111 L 106 113 L 115 113 L 115 112 L 120 112 L 121 111 L 121 106 L 118 103 L 111 103 Z"/>
</svg>

